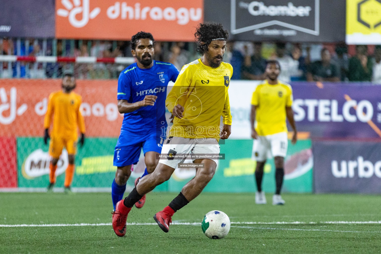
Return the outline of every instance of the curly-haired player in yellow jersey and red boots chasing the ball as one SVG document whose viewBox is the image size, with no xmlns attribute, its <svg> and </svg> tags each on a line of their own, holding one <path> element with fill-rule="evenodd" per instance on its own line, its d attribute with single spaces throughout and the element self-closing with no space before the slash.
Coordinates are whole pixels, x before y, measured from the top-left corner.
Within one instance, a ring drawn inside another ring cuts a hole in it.
<svg viewBox="0 0 381 254">
<path fill-rule="evenodd" d="M 212 179 L 219 155 L 218 141 L 227 139 L 231 133 L 227 89 L 233 68 L 222 61 L 228 36 L 222 24 L 206 23 L 197 27 L 197 52 L 202 57 L 182 67 L 165 101 L 168 111 L 174 115 L 161 152 L 165 158 L 160 158 L 154 172 L 142 178 L 125 200 L 117 203 L 112 227 L 118 236 L 125 235 L 127 215 L 135 202 L 170 179 L 186 156 L 194 156 L 193 162 L 203 165 L 196 167 L 196 176 L 180 194 L 155 214 L 154 219 L 164 232 L 168 232 L 174 212 L 197 197 Z"/>
</svg>

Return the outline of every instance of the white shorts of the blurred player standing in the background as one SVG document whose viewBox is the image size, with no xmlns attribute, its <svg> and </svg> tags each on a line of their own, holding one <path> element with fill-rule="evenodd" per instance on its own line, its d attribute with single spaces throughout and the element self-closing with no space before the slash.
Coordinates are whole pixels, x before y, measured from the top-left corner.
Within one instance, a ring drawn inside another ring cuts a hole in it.
<svg viewBox="0 0 381 254">
<path fill-rule="evenodd" d="M 253 141 L 253 152 L 251 159 L 255 161 L 266 161 L 267 156 L 271 152 L 271 156 L 286 157 L 287 154 L 287 133 L 280 132 L 267 136 L 258 136 Z M 271 157 L 270 156 L 270 157 Z"/>
</svg>

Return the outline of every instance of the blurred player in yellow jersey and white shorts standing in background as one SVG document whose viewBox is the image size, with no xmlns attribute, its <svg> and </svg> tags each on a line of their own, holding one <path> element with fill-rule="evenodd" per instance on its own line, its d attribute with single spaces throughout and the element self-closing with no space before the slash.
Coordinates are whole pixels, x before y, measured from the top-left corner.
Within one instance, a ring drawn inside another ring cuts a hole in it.
<svg viewBox="0 0 381 254">
<path fill-rule="evenodd" d="M 262 191 L 263 168 L 267 154 L 271 152 L 275 161 L 275 195 L 272 204 L 284 204 L 280 196 L 284 176 L 284 158 L 287 153 L 286 117 L 294 133 L 291 140 L 296 143 L 296 126 L 291 109 L 293 97 L 291 86 L 278 80 L 280 65 L 278 61 L 268 61 L 266 67 L 267 80 L 258 85 L 251 99 L 251 137 L 253 143 L 253 160 L 256 160 L 255 179 L 258 192 L 255 193 L 257 204 L 266 204 Z M 256 120 L 256 125 L 254 122 Z"/>
</svg>

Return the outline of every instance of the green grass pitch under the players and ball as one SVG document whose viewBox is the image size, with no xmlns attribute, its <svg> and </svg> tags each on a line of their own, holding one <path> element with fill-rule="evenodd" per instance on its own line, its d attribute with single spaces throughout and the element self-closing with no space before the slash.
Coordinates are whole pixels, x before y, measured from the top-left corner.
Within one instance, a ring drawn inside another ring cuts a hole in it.
<svg viewBox="0 0 381 254">
<path fill-rule="evenodd" d="M 127 222 L 153 223 L 155 212 L 176 195 L 149 193 L 145 206 L 133 208 Z M 157 225 L 128 225 L 123 238 L 117 237 L 110 225 L 5 227 L 110 223 L 111 196 L 0 193 L 0 253 L 381 253 L 380 196 L 282 197 L 284 206 L 272 206 L 271 194 L 267 195 L 268 204 L 256 205 L 253 193 L 202 193 L 174 214 L 173 223 L 200 223 L 211 210 L 225 212 L 231 222 L 257 222 L 232 223 L 224 239 L 211 240 L 203 235 L 200 225 L 171 225 L 168 233 Z"/>
</svg>

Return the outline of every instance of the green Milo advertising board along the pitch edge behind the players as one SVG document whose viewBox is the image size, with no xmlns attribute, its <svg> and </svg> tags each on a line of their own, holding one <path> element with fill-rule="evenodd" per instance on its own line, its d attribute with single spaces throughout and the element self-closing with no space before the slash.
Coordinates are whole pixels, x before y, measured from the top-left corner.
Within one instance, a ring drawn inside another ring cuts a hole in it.
<svg viewBox="0 0 381 254">
<path fill-rule="evenodd" d="M 87 138 L 85 145 L 82 148 L 78 147 L 72 183 L 74 190 L 99 191 L 104 189 L 110 191 L 116 171 L 116 167 L 113 166 L 116 141 L 116 138 Z M 252 144 L 252 140 L 227 139 L 226 143 L 221 145 L 221 153 L 225 154 L 226 159 L 219 160 L 216 174 L 205 191 L 255 192 L 255 161 L 251 160 Z M 18 186 L 21 188 L 46 188 L 49 184 L 48 145 L 43 143 L 41 137 L 19 137 L 17 152 Z M 56 187 L 63 187 L 67 165 L 67 152 L 64 150 L 56 170 Z M 139 162 L 134 165 L 131 177 L 127 182 L 127 191 L 133 189 L 134 180 L 142 175 L 145 167 L 144 156 L 141 153 Z M 273 159 L 267 160 L 264 172 L 263 189 L 265 192 L 274 192 L 275 166 Z M 175 169 L 171 179 L 156 187 L 155 191 L 180 192 L 182 187 L 195 176 L 195 173 L 195 169 Z M 283 191 L 312 191 L 311 140 L 299 140 L 296 145 L 288 145 Z"/>
</svg>

